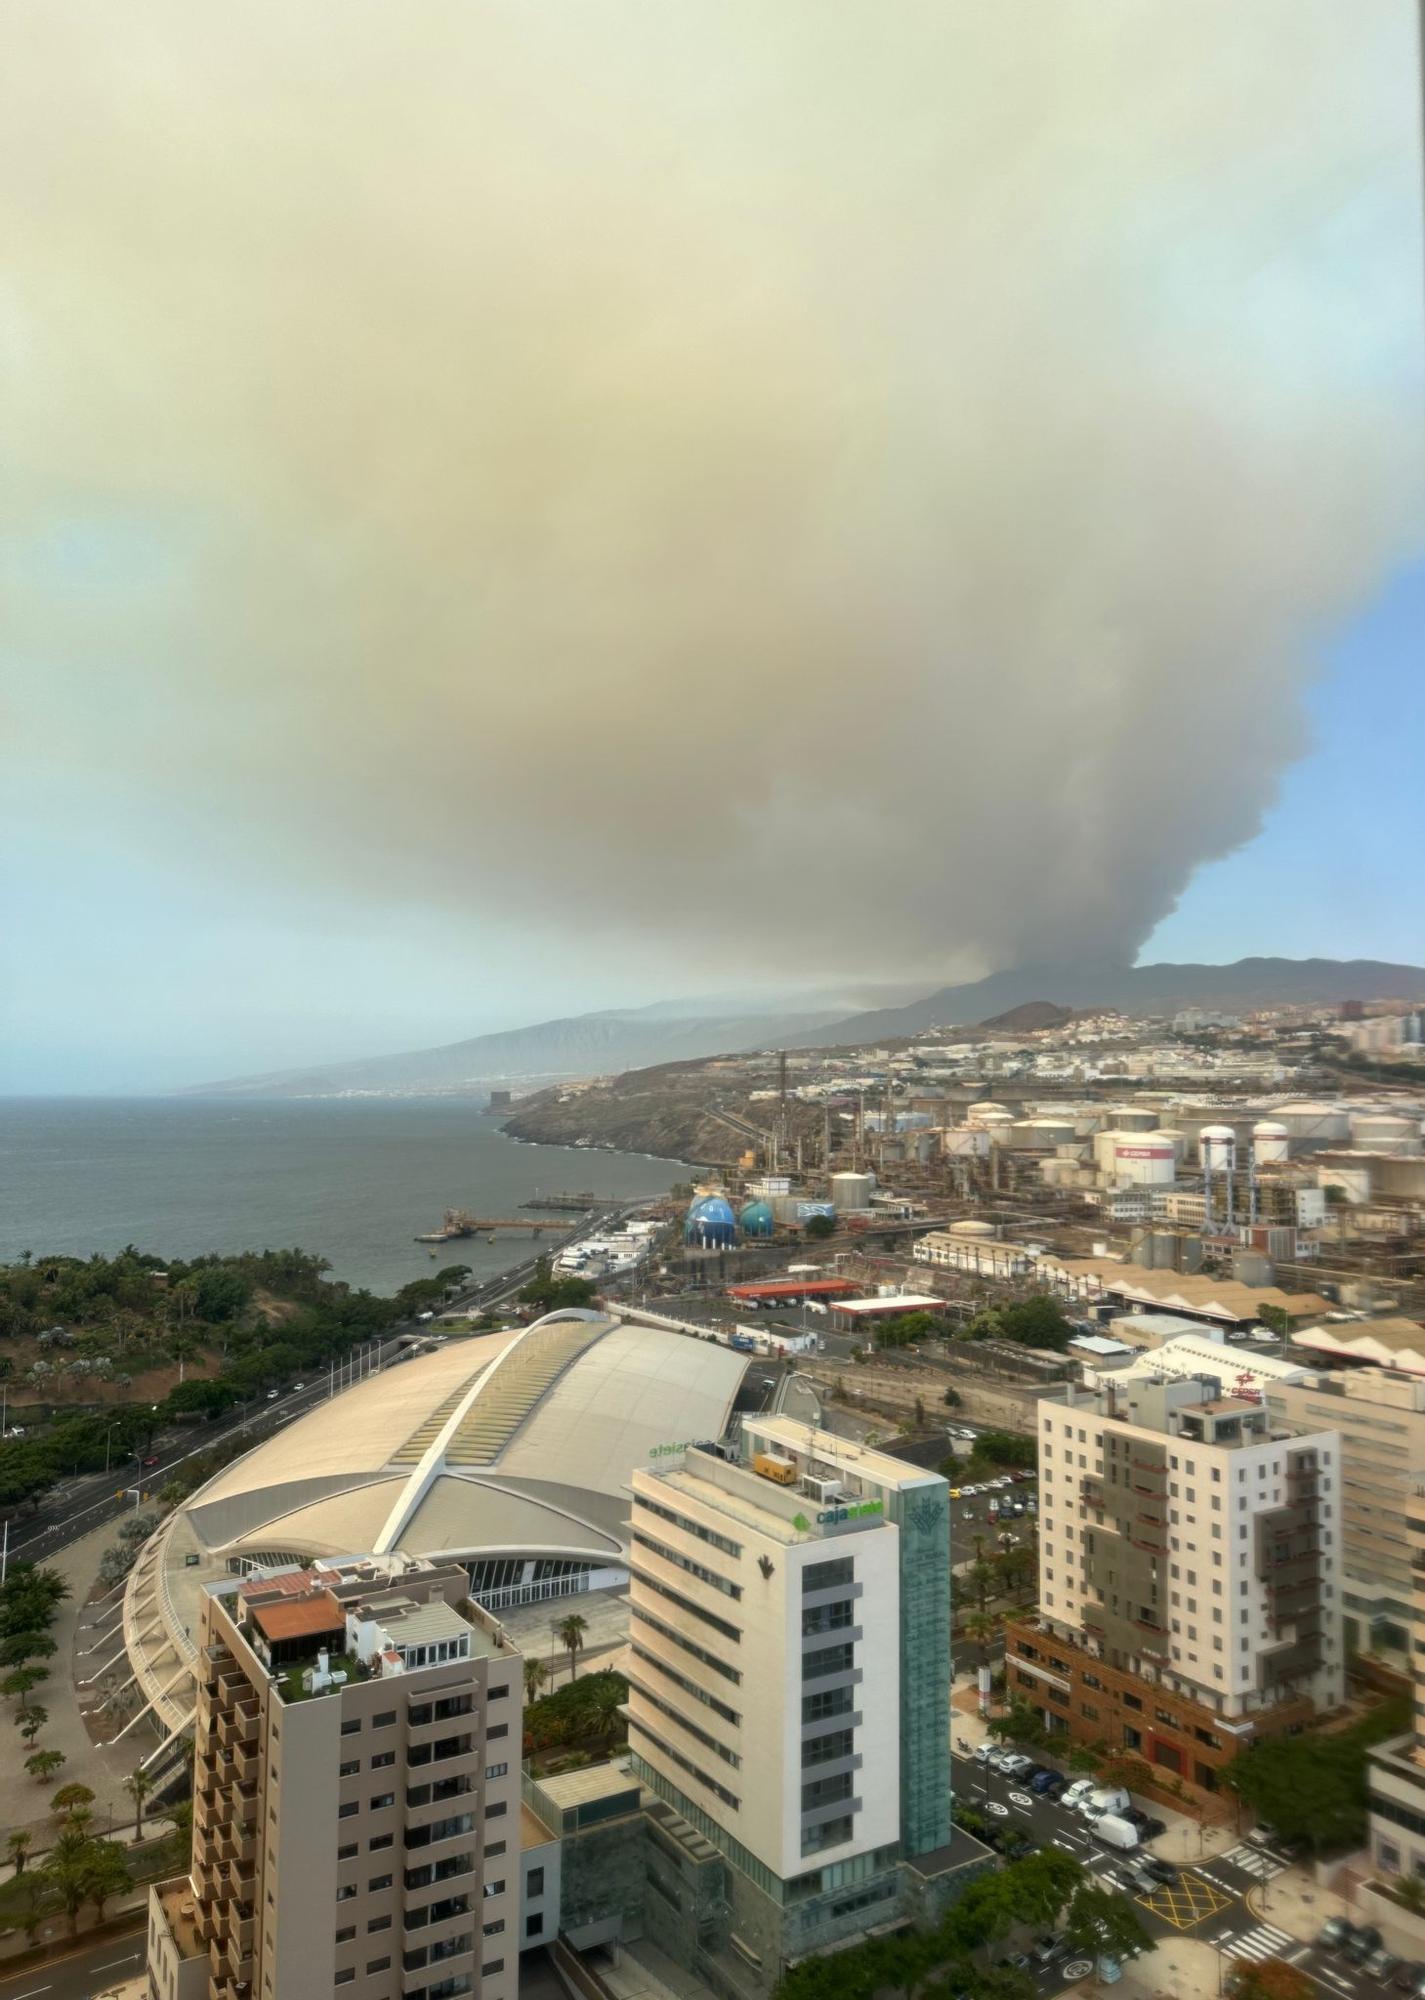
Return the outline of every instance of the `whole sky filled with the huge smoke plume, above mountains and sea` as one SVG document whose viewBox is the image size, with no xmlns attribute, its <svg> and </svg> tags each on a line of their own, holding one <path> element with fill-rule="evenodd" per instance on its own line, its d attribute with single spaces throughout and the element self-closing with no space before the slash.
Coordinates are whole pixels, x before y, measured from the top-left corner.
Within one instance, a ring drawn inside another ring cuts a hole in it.
<svg viewBox="0 0 1425 2000">
<path fill-rule="evenodd" d="M 1425 958 L 1413 14 L 12 0 L 0 1088 Z"/>
</svg>

